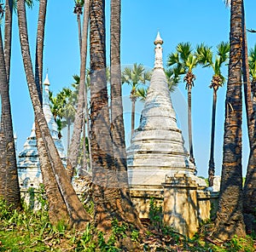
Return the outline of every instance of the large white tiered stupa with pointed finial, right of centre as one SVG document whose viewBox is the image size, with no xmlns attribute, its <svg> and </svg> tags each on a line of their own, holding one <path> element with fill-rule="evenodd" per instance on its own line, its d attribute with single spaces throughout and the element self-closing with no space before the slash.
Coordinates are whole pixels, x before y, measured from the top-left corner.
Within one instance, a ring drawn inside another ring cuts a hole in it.
<svg viewBox="0 0 256 252">
<path fill-rule="evenodd" d="M 195 177 L 195 165 L 189 161 L 183 135 L 177 128 L 176 113 L 162 60 L 163 40 L 158 32 L 154 41 L 154 71 L 140 119 L 140 125 L 127 149 L 131 189 L 162 189 L 166 175 L 185 173 Z"/>
</svg>

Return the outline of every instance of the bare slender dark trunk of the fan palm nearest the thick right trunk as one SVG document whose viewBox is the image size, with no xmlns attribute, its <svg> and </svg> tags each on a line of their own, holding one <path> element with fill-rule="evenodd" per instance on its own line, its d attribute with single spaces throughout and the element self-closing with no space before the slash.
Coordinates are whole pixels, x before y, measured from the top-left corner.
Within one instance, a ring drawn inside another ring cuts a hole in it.
<svg viewBox="0 0 256 252">
<path fill-rule="evenodd" d="M 211 134 L 211 152 L 208 169 L 209 186 L 213 186 L 213 179 L 215 174 L 214 164 L 214 139 L 215 139 L 215 117 L 216 117 L 216 103 L 217 103 L 217 89 L 213 87 L 213 100 L 212 100 L 212 134 Z"/>
</svg>

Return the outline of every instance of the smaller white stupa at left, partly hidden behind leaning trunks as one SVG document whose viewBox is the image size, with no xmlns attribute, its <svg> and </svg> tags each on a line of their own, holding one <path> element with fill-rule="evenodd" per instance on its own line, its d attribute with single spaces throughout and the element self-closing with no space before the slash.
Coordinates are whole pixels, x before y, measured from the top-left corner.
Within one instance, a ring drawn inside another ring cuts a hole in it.
<svg viewBox="0 0 256 252">
<path fill-rule="evenodd" d="M 60 154 L 61 160 L 66 164 L 66 155 L 61 140 L 58 137 L 58 127 L 55 119 L 50 111 L 49 106 L 49 78 L 48 74 L 44 80 L 43 91 L 43 111 L 44 117 L 48 123 L 49 132 L 55 141 L 55 146 Z M 19 153 L 18 158 L 18 175 L 20 181 L 20 188 L 34 187 L 38 188 L 42 183 L 42 175 L 40 170 L 37 140 L 35 134 L 35 123 L 32 125 L 31 135 L 26 139 L 23 150 Z"/>
</svg>

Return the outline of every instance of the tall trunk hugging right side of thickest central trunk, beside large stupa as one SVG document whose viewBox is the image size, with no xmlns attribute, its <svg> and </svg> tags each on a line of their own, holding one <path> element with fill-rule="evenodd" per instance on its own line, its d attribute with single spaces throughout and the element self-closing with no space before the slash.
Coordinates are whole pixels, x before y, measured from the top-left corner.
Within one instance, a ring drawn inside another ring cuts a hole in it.
<svg viewBox="0 0 256 252">
<path fill-rule="evenodd" d="M 113 158 L 119 180 L 119 192 L 121 194 L 125 219 L 130 223 L 140 226 L 136 210 L 133 208 L 128 185 L 126 150 L 125 150 L 125 127 L 123 119 L 123 103 L 121 89 L 120 68 L 120 0 L 111 1 L 111 42 L 110 42 L 110 79 L 111 79 L 111 119 Z"/>
</svg>

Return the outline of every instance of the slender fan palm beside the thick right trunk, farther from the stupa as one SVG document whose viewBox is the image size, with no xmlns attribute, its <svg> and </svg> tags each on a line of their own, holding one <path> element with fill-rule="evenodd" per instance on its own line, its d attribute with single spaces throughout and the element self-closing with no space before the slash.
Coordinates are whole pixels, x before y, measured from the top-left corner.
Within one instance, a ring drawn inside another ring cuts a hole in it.
<svg viewBox="0 0 256 252">
<path fill-rule="evenodd" d="M 217 46 L 218 55 L 213 60 L 212 49 L 203 43 L 197 46 L 196 56 L 198 58 L 199 64 L 203 67 L 211 67 L 213 71 L 212 83 L 210 89 L 213 90 L 213 100 L 212 100 L 212 134 L 211 134 L 211 151 L 210 160 L 208 168 L 208 181 L 209 186 L 213 186 L 213 179 L 215 174 L 215 164 L 214 164 L 214 135 L 215 135 L 215 117 L 216 117 L 216 104 L 217 104 L 217 91 L 219 87 L 224 84 L 224 76 L 221 73 L 221 67 L 228 60 L 230 52 L 229 43 L 219 43 Z"/>
</svg>

